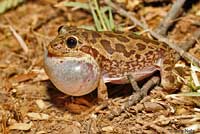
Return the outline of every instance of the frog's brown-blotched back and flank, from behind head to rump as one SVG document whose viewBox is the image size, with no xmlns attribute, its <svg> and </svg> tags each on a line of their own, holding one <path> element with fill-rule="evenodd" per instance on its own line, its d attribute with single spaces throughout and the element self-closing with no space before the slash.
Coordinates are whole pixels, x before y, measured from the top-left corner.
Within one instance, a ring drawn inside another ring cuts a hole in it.
<svg viewBox="0 0 200 134">
<path fill-rule="evenodd" d="M 110 77 L 120 77 L 154 65 L 171 49 L 163 44 L 131 32 L 80 32 L 88 43 L 82 50 L 90 50 L 99 61 L 102 71 Z"/>
</svg>

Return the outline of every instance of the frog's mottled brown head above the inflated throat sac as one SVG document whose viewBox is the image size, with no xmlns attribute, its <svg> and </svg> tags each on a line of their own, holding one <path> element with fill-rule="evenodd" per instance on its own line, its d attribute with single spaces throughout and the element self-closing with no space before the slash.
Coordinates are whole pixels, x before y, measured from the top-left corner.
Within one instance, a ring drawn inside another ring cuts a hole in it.
<svg viewBox="0 0 200 134">
<path fill-rule="evenodd" d="M 57 37 L 48 45 L 49 54 L 66 57 L 82 57 L 81 47 L 87 44 L 82 37 L 85 29 L 77 27 L 60 26 Z"/>
</svg>

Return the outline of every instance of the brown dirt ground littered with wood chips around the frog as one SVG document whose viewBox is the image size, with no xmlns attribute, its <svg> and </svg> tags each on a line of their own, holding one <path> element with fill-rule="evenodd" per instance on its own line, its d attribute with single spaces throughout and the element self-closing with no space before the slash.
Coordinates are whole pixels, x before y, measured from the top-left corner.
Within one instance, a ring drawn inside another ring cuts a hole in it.
<svg viewBox="0 0 200 134">
<path fill-rule="evenodd" d="M 160 1 L 132 1 L 127 4 L 126 0 L 121 0 L 120 6 L 138 18 L 143 17 L 151 28 L 155 28 L 172 5 L 170 0 Z M 94 25 L 88 11 L 55 7 L 57 3 L 58 0 L 27 0 L 17 8 L 0 15 L 0 133 L 200 132 L 200 99 L 196 96 L 170 96 L 157 86 L 138 104 L 110 120 L 107 114 L 111 109 L 119 108 L 123 100 L 130 95 L 129 86 L 109 86 L 113 92 L 109 98 L 110 103 L 108 107 L 99 110 L 96 110 L 100 105 L 96 101 L 96 93 L 84 97 L 69 97 L 53 87 L 43 69 L 44 47 L 57 35 L 60 25 Z M 115 12 L 113 16 L 117 25 L 123 24 L 125 28 L 133 26 L 129 19 Z M 170 28 L 169 38 L 177 43 L 190 40 L 192 33 L 200 26 L 200 2 L 193 2 L 183 15 L 174 21 L 176 24 Z M 28 52 L 16 39 L 13 29 L 25 41 Z M 142 29 L 132 30 L 144 33 Z M 190 53 L 200 57 L 199 40 Z M 182 65 L 181 78 L 189 81 L 190 65 L 183 60 L 179 63 Z M 183 85 L 176 94 L 191 91 L 189 86 Z M 85 105 L 79 105 L 80 103 Z"/>
</svg>

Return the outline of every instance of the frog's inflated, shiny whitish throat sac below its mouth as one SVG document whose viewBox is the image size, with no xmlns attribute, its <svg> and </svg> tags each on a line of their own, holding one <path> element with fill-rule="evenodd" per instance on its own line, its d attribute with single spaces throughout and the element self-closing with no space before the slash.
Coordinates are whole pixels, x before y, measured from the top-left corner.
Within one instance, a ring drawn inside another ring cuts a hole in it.
<svg viewBox="0 0 200 134">
<path fill-rule="evenodd" d="M 67 53 L 61 57 L 46 52 L 44 68 L 51 82 L 65 94 L 82 96 L 98 86 L 100 68 L 87 54 Z"/>
</svg>

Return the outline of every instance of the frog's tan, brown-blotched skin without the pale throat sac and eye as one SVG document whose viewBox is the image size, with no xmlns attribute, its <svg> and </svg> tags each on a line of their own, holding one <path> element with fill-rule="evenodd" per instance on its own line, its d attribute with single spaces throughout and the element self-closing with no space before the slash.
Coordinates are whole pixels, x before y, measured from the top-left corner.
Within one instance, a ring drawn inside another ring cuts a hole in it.
<svg viewBox="0 0 200 134">
<path fill-rule="evenodd" d="M 67 46 L 66 40 L 69 37 L 77 39 L 75 48 Z M 58 36 L 48 45 L 47 52 L 45 57 L 73 58 L 78 55 L 79 58 L 89 56 L 94 59 L 100 76 L 98 84 L 93 88 L 105 90 L 106 82 L 128 83 L 127 75 L 132 75 L 139 81 L 156 70 L 161 71 L 161 85 L 164 88 L 175 89 L 178 86 L 172 73 L 175 62 L 180 58 L 178 54 L 163 43 L 134 35 L 132 32 L 95 32 L 63 26 Z M 45 66 L 48 72 L 49 67 Z M 54 76 L 50 76 L 50 80 L 51 77 Z M 68 94 L 67 91 L 65 93 Z"/>
</svg>

